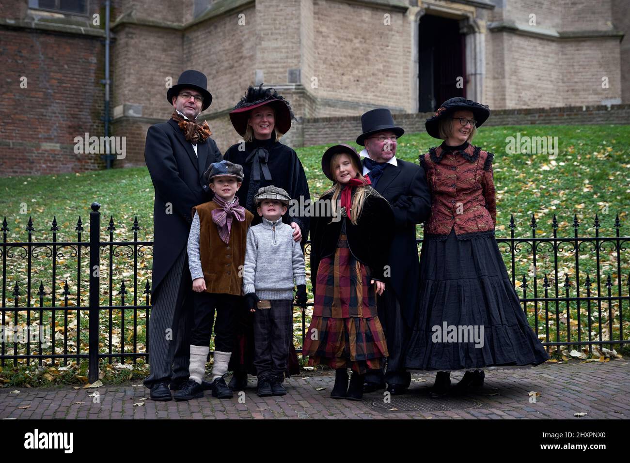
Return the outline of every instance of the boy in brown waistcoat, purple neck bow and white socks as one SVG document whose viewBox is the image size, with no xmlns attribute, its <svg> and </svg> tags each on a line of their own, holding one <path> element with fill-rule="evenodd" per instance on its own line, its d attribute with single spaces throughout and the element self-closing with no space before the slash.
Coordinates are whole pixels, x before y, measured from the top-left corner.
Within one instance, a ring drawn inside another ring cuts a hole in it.
<svg viewBox="0 0 630 463">
<path fill-rule="evenodd" d="M 203 397 L 202 380 L 210 351 L 214 313 L 212 396 L 233 396 L 223 376 L 232 355 L 236 312 L 243 307 L 243 278 L 249 224 L 254 216 L 238 203 L 243 166 L 229 161 L 210 164 L 203 174 L 214 192 L 212 201 L 193 207 L 188 236 L 188 266 L 193 280 L 194 325 L 190 345 L 189 379 L 173 396 L 185 401 Z"/>
</svg>

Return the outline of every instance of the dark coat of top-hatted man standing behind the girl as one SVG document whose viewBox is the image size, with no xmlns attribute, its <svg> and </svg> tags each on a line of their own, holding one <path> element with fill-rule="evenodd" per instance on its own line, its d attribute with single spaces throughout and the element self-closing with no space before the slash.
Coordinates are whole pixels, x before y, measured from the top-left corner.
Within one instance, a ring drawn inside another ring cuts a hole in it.
<svg viewBox="0 0 630 463">
<path fill-rule="evenodd" d="M 386 164 L 374 189 L 389 202 L 394 210 L 396 232 L 389 251 L 390 283 L 407 326 L 413 326 L 418 300 L 418 246 L 416 224 L 425 222 L 431 214 L 431 196 L 425 171 L 418 164 L 396 159 L 398 166 Z M 362 161 L 364 164 L 364 161 Z M 406 197 L 411 207 L 397 205 L 398 198 Z M 376 244 L 376 243 L 375 243 Z"/>
</svg>

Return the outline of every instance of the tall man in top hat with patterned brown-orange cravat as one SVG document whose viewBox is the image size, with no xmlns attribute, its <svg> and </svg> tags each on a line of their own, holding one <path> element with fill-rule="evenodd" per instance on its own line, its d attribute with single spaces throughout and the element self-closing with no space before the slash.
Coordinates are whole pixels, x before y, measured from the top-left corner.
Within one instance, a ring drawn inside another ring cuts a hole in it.
<svg viewBox="0 0 630 463">
<path fill-rule="evenodd" d="M 222 160 L 208 123 L 197 117 L 212 102 L 207 78 L 199 71 L 184 71 L 169 88 L 171 118 L 149 127 L 144 160 L 155 189 L 153 209 L 153 282 L 147 347 L 151 374 L 144 385 L 151 399 L 169 401 L 171 389 L 188 380 L 192 279 L 186 243 L 191 211 L 212 199 L 203 173 Z M 186 307 L 184 307 L 186 305 Z M 206 389 L 210 384 L 205 384 Z"/>
</svg>

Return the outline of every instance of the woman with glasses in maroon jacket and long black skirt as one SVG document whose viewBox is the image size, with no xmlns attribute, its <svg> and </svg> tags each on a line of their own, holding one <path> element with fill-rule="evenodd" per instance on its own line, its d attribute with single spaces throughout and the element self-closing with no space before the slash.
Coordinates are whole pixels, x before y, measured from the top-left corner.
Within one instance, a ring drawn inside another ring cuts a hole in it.
<svg viewBox="0 0 630 463">
<path fill-rule="evenodd" d="M 494 154 L 471 144 L 488 117 L 488 106 L 458 97 L 425 123 L 429 135 L 444 141 L 420 156 L 432 207 L 405 367 L 437 370 L 433 397 L 449 393 L 452 370 L 466 370 L 455 386 L 462 392 L 483 386 L 484 367 L 539 365 L 549 358 L 496 244 Z"/>
</svg>

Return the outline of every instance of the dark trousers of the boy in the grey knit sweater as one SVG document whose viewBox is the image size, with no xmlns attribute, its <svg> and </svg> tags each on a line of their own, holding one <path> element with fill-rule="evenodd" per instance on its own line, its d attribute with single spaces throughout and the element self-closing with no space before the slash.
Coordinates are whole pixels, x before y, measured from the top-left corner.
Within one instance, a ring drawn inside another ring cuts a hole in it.
<svg viewBox="0 0 630 463">
<path fill-rule="evenodd" d="M 262 302 L 262 301 L 261 301 Z M 254 365 L 258 381 L 282 382 L 293 341 L 292 299 L 270 300 L 271 307 L 254 314 Z"/>
</svg>

